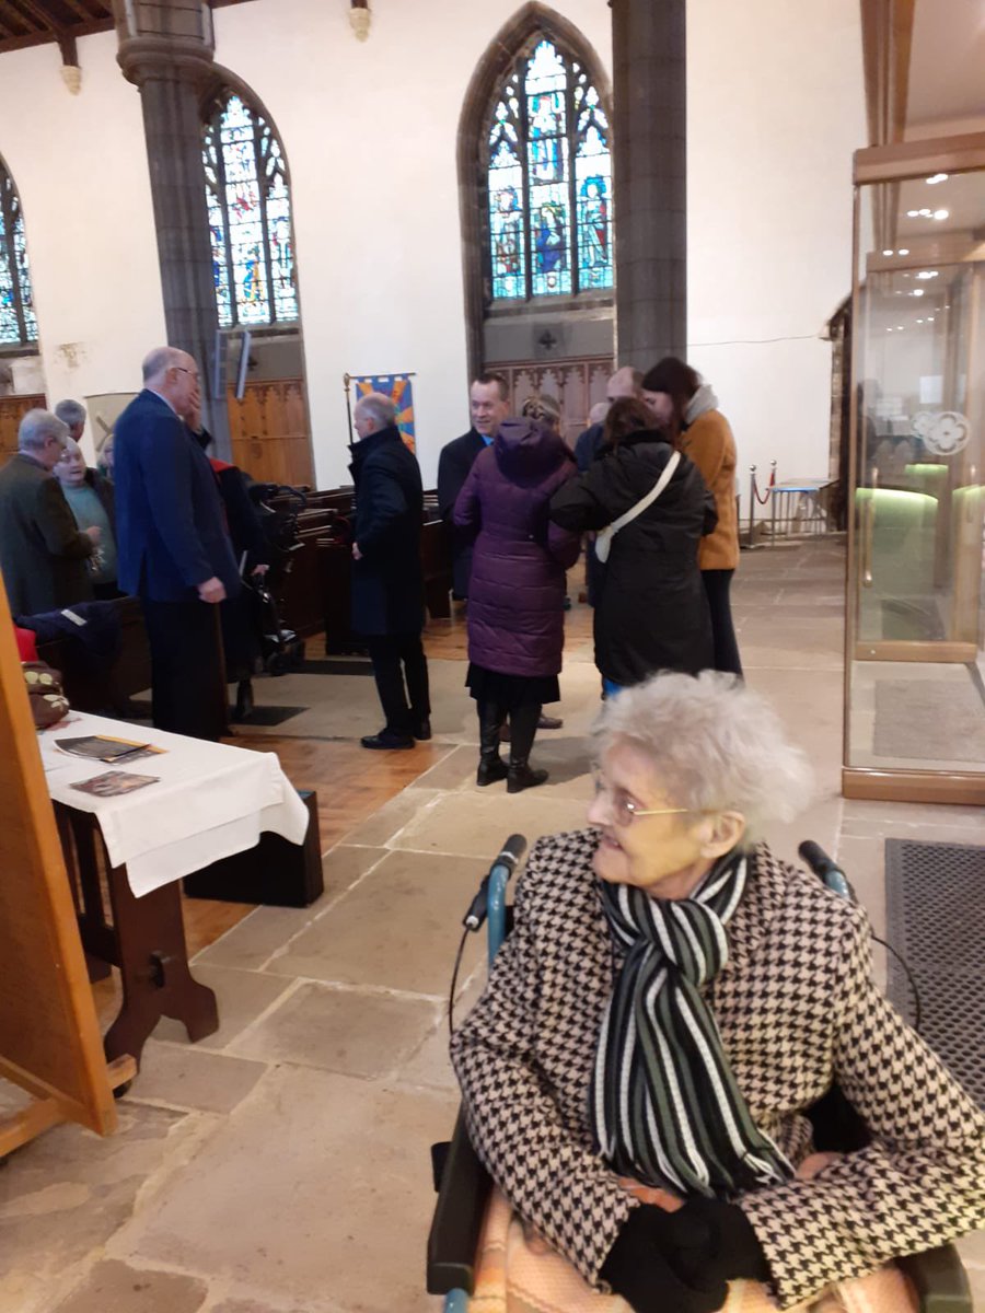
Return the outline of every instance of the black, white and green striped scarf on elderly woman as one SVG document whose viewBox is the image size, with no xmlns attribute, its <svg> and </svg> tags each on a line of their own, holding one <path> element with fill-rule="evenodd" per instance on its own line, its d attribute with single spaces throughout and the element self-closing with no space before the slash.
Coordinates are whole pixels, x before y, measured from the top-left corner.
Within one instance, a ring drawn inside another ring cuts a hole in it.
<svg viewBox="0 0 985 1313">
<path fill-rule="evenodd" d="M 679 901 L 602 882 L 626 960 L 592 1073 L 595 1146 L 620 1175 L 684 1196 L 728 1197 L 793 1176 L 753 1121 L 699 993 L 728 961 L 725 926 L 746 873 L 746 856 L 733 851 Z"/>
</svg>

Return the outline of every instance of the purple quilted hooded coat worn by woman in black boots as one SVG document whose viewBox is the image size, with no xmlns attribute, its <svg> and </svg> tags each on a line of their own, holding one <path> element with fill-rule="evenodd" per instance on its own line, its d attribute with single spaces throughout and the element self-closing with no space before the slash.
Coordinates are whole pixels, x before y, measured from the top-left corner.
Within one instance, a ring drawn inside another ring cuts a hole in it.
<svg viewBox="0 0 985 1313">
<path fill-rule="evenodd" d="M 561 671 L 565 571 L 579 536 L 548 520 L 553 494 L 575 475 L 565 442 L 506 420 L 475 458 L 454 523 L 477 534 L 469 583 L 469 659 L 504 675 Z"/>
</svg>

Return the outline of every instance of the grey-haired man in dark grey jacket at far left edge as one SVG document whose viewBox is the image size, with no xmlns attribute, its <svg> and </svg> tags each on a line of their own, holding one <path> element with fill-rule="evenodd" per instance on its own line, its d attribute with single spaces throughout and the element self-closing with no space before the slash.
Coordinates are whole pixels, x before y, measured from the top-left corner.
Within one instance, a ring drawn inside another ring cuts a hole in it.
<svg viewBox="0 0 985 1313">
<path fill-rule="evenodd" d="M 80 530 L 53 475 L 68 427 L 32 410 L 17 431 L 18 450 L 0 470 L 0 570 L 11 612 L 37 616 L 92 599 L 87 561 L 97 527 Z"/>
</svg>

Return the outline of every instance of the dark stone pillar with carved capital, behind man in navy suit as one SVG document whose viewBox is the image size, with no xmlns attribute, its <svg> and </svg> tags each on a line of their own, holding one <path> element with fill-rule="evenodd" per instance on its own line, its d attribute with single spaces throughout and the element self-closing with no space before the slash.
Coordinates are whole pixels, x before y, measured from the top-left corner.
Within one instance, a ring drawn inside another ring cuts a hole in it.
<svg viewBox="0 0 985 1313">
<path fill-rule="evenodd" d="M 218 314 L 200 114 L 213 67 L 211 11 L 196 0 L 114 4 L 120 67 L 141 88 L 168 344 L 198 361 L 202 418 L 229 460 L 226 381 L 218 395 L 214 381 Z"/>
</svg>

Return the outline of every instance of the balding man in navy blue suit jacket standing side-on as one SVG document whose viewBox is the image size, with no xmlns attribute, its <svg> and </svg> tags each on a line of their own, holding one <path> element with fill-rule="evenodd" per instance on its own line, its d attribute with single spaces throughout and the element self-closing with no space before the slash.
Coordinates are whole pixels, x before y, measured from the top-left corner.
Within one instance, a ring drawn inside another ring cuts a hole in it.
<svg viewBox="0 0 985 1313">
<path fill-rule="evenodd" d="M 147 626 L 154 723 L 214 741 L 227 727 L 217 608 L 240 584 L 211 466 L 184 423 L 200 406 L 192 356 L 152 351 L 114 429 L 117 549 Z"/>
</svg>

